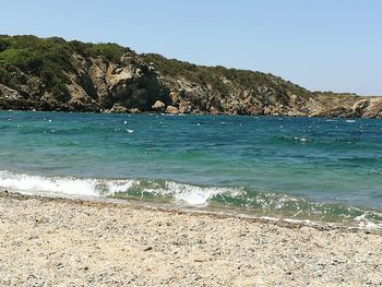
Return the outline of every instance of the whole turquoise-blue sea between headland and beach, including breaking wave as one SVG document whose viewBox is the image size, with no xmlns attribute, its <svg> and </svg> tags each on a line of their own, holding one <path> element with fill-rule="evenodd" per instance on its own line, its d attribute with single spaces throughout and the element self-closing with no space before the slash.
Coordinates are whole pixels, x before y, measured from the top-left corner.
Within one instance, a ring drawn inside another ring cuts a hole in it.
<svg viewBox="0 0 382 287">
<path fill-rule="evenodd" d="M 382 120 L 1 111 L 0 187 L 382 226 Z"/>
</svg>

